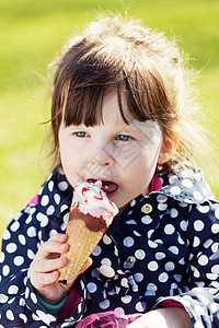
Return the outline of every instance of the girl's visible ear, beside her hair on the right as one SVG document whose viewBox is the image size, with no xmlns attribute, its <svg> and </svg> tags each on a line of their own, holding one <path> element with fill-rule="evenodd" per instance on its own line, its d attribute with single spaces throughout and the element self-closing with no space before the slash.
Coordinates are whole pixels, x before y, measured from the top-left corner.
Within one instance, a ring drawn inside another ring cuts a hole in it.
<svg viewBox="0 0 219 328">
<path fill-rule="evenodd" d="M 176 152 L 180 140 L 181 134 L 176 131 L 172 131 L 171 134 L 165 137 L 158 157 L 159 164 L 166 163 L 171 160 Z"/>
</svg>

